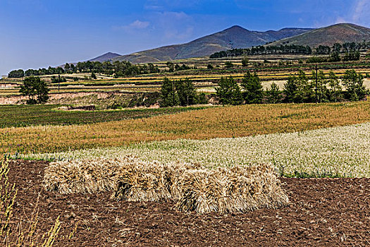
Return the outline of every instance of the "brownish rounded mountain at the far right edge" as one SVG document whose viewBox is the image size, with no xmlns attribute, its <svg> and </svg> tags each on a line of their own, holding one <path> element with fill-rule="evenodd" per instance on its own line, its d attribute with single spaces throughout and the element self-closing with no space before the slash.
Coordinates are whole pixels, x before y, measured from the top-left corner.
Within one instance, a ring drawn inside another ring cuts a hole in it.
<svg viewBox="0 0 370 247">
<path fill-rule="evenodd" d="M 364 28 L 351 23 L 340 23 L 278 40 L 271 45 L 300 44 L 319 47 L 319 45 L 332 46 L 335 43 L 364 42 L 364 40 L 370 41 L 370 28 Z"/>
</svg>

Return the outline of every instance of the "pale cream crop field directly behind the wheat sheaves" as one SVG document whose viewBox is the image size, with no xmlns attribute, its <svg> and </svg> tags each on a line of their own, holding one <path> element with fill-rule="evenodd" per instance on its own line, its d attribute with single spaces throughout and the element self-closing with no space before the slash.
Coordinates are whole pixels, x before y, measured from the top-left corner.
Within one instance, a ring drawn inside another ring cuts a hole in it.
<svg viewBox="0 0 370 247">
<path fill-rule="evenodd" d="M 370 123 L 314 131 L 211 140 L 169 140 L 128 147 L 22 156 L 26 159 L 121 159 L 202 164 L 202 167 L 272 164 L 279 176 L 370 178 Z"/>
</svg>

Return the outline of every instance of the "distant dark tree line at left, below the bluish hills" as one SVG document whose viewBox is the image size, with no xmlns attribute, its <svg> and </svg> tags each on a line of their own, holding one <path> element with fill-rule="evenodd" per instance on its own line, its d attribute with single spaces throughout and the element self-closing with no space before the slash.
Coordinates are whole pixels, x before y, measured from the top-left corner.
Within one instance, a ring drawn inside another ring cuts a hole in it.
<svg viewBox="0 0 370 247">
<path fill-rule="evenodd" d="M 28 69 L 23 71 L 23 69 L 11 71 L 8 73 L 9 78 L 22 78 L 24 76 L 45 76 L 45 75 L 56 75 L 56 74 L 66 74 L 66 73 L 103 73 L 109 76 L 114 76 L 116 78 L 122 76 L 137 76 L 140 74 L 147 73 L 159 73 L 159 67 L 154 66 L 154 64 L 143 64 L 135 65 L 131 64 L 129 61 L 85 61 L 78 62 L 75 64 L 65 64 L 63 67 L 53 68 L 39 68 Z"/>
</svg>

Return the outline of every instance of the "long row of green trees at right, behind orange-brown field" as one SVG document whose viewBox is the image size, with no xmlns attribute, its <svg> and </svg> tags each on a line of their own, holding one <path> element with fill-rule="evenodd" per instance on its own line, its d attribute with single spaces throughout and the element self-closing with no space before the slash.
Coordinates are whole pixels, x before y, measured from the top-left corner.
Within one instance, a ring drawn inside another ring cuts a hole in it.
<svg viewBox="0 0 370 247">
<path fill-rule="evenodd" d="M 363 85 L 364 77 L 354 70 L 345 71 L 342 83 L 331 71 L 326 76 L 323 71 L 313 71 L 311 80 L 300 70 L 297 75 L 291 75 L 283 90 L 272 83 L 264 90 L 257 73 L 247 72 L 240 85 L 233 78 L 221 78 L 218 81 L 216 95 L 221 104 L 260 104 L 263 102 L 276 104 L 309 103 L 309 102 L 339 102 L 342 100 L 364 100 L 369 93 Z M 344 88 L 343 88 L 344 87 Z"/>
</svg>

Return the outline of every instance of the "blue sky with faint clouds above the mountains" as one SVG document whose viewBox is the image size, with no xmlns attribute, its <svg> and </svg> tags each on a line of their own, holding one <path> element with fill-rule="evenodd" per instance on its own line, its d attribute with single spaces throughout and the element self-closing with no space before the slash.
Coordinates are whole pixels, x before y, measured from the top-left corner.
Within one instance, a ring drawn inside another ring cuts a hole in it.
<svg viewBox="0 0 370 247">
<path fill-rule="evenodd" d="M 0 75 L 129 54 L 241 25 L 370 26 L 370 0 L 0 0 Z"/>
</svg>

